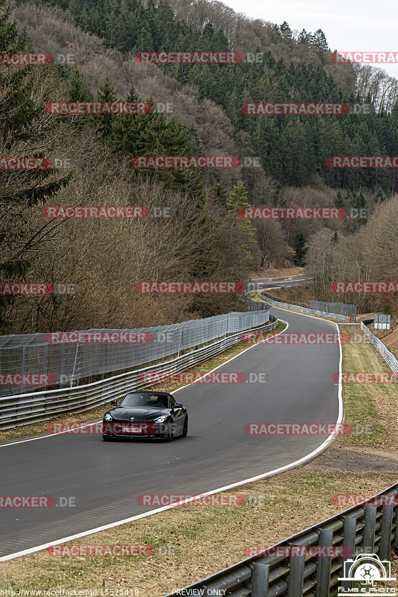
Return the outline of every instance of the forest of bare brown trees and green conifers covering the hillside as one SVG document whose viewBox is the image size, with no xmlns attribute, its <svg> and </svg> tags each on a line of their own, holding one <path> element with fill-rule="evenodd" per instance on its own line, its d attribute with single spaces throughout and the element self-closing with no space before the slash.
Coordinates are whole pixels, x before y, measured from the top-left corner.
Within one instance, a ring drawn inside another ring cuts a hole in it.
<svg viewBox="0 0 398 597">
<path fill-rule="evenodd" d="M 205 0 L 17 0 L 10 6 L 0 0 L 0 47 L 1 53 L 74 57 L 72 66 L 0 70 L 2 155 L 73 159 L 69 170 L 0 171 L 2 281 L 79 287 L 75 296 L 0 296 L 2 333 L 135 328 L 245 309 L 237 296 L 135 293 L 143 280 L 242 281 L 249 270 L 306 264 L 318 298 L 336 300 L 330 290 L 336 276 L 393 275 L 385 251 L 394 256 L 398 232 L 396 169 L 348 171 L 330 168 L 327 159 L 396 153 L 398 82 L 370 66 L 332 64 L 322 30 L 293 32 L 286 21 L 249 20 Z M 261 51 L 263 60 L 138 64 L 135 54 L 144 50 Z M 71 116 L 46 113 L 48 101 L 168 101 L 173 109 Z M 248 102 L 365 103 L 370 109 L 249 116 L 242 112 Z M 132 158 L 146 155 L 258 156 L 262 165 L 132 168 Z M 168 206 L 172 217 L 51 220 L 42 216 L 45 205 Z M 249 205 L 365 209 L 369 217 L 240 219 L 240 208 Z M 352 295 L 339 300 L 366 309 L 378 304 Z"/>
</svg>

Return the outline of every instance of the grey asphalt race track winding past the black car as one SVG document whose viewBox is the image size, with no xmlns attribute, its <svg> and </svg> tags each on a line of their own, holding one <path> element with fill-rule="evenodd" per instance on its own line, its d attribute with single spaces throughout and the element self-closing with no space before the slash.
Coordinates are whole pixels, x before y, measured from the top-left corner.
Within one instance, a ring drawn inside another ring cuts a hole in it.
<svg viewBox="0 0 398 597">
<path fill-rule="evenodd" d="M 288 333 L 337 333 L 323 319 L 271 313 L 288 321 Z M 255 436 L 243 427 L 335 423 L 339 362 L 339 344 L 257 344 L 217 371 L 267 373 L 267 383 L 195 383 L 175 392 L 187 407 L 189 433 L 171 443 L 63 433 L 0 445 L 1 496 L 75 497 L 76 504 L 0 508 L 0 556 L 153 510 L 137 504 L 140 494 L 200 494 L 305 458 L 328 436 Z"/>
</svg>

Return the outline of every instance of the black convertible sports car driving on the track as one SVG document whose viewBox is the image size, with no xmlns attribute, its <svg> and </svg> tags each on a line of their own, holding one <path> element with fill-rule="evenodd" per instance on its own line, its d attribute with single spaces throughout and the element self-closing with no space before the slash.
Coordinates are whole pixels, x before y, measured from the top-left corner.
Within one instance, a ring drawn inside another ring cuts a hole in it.
<svg viewBox="0 0 398 597">
<path fill-rule="evenodd" d="M 167 392 L 129 392 L 104 414 L 102 438 L 158 438 L 171 442 L 188 433 L 187 409 Z"/>
</svg>

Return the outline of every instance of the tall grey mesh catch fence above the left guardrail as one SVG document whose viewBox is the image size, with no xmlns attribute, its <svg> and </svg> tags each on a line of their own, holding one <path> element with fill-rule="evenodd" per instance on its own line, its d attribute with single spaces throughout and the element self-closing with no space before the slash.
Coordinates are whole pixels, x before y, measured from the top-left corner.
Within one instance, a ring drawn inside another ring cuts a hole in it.
<svg viewBox="0 0 398 597">
<path fill-rule="evenodd" d="M 264 325 L 269 305 L 139 330 L 85 330 L 0 337 L 0 396 L 72 387 L 159 364 Z"/>
</svg>

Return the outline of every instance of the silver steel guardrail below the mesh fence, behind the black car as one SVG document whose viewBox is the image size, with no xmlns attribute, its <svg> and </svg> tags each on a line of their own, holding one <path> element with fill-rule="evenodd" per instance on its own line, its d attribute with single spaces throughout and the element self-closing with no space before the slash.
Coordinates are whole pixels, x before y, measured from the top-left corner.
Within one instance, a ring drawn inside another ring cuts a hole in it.
<svg viewBox="0 0 398 597">
<path fill-rule="evenodd" d="M 242 313 L 236 315 L 242 315 Z M 187 371 L 187 368 L 198 365 L 212 356 L 218 355 L 223 350 L 233 346 L 233 344 L 242 341 L 243 333 L 248 331 L 271 331 L 278 324 L 277 319 L 269 315 L 269 309 L 256 313 L 245 313 L 245 315 L 251 315 L 251 322 L 255 325 L 239 331 L 229 332 L 226 330 L 224 337 L 214 338 L 208 343 L 203 340 L 202 345 L 196 347 L 196 349 L 192 347 L 191 349 L 182 350 L 178 352 L 178 356 L 175 358 L 163 359 L 161 363 L 156 364 L 155 362 L 155 364 L 145 367 L 137 364 L 138 367 L 134 371 L 85 384 L 84 386 L 3 396 L 0 398 L 0 429 L 11 429 L 11 427 L 44 421 L 62 413 L 83 413 L 90 410 L 90 408 L 106 404 L 110 400 L 122 398 L 127 392 L 153 385 L 153 383 L 138 382 L 138 373 Z M 271 321 L 271 323 L 266 324 L 268 321 Z M 176 353 L 177 350 L 178 347 L 175 347 Z"/>
</svg>

